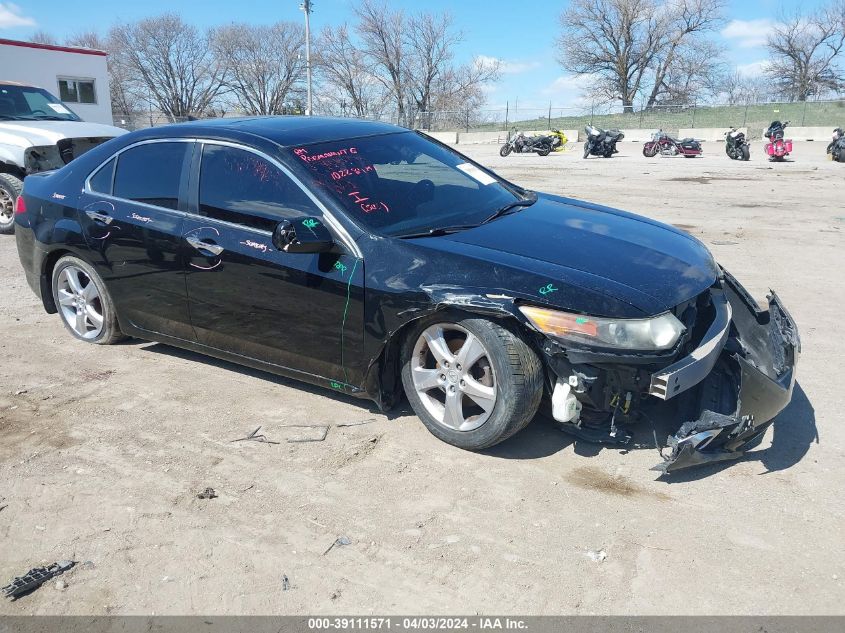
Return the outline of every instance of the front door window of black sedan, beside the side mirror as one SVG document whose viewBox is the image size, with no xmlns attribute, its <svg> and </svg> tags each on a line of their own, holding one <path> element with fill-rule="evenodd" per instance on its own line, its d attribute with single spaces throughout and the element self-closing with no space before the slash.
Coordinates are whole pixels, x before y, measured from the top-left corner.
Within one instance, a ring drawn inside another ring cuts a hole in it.
<svg viewBox="0 0 845 633">
<path fill-rule="evenodd" d="M 225 145 L 203 147 L 200 215 L 272 231 L 281 220 L 321 215 L 308 195 L 261 156 Z"/>
</svg>

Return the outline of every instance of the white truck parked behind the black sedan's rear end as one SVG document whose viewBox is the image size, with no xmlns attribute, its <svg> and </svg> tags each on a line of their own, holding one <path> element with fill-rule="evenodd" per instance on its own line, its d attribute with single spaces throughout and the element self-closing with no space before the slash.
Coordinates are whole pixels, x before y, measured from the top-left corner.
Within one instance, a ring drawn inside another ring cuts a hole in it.
<svg viewBox="0 0 845 633">
<path fill-rule="evenodd" d="M 24 177 L 63 167 L 125 133 L 86 123 L 43 88 L 0 81 L 0 233 L 15 229 Z"/>
</svg>

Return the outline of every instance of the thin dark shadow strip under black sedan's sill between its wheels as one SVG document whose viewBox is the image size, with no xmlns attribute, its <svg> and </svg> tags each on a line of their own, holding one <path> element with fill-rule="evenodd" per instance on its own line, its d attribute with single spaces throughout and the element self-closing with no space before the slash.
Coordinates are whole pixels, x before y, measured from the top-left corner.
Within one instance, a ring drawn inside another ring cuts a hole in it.
<svg viewBox="0 0 845 633">
<path fill-rule="evenodd" d="M 130 341 L 130 343 L 132 342 L 139 343 L 139 341 Z M 225 369 L 227 371 L 235 372 L 243 376 L 249 376 L 251 378 L 265 380 L 267 382 L 271 382 L 276 385 L 281 385 L 283 387 L 290 387 L 291 389 L 298 389 L 299 391 L 303 391 L 305 393 L 331 398 L 332 400 L 335 400 L 337 402 L 343 402 L 345 404 L 351 404 L 356 407 L 360 407 L 361 409 L 369 411 L 373 414 L 384 415 L 387 417 L 388 420 L 395 420 L 411 413 L 411 409 L 408 406 L 407 401 L 405 401 L 404 399 L 390 411 L 383 412 L 379 410 L 375 402 L 373 402 L 372 400 L 365 398 L 356 398 L 354 396 L 350 396 L 348 394 L 329 389 L 328 387 L 319 387 L 317 385 L 312 385 L 301 380 L 296 380 L 294 378 L 278 376 L 276 374 L 271 374 L 270 372 L 262 371 L 260 369 L 253 369 L 252 367 L 247 367 L 246 365 L 231 363 L 226 360 L 214 358 L 213 356 L 207 356 L 206 354 L 192 352 L 190 350 L 182 349 L 179 347 L 171 347 L 170 345 L 165 345 L 163 343 L 140 342 L 139 346 L 145 352 L 153 352 L 155 354 L 163 354 L 165 356 L 170 356 L 173 358 L 181 358 L 183 360 L 188 360 L 194 363 L 203 363 L 205 365 L 211 365 L 214 367 Z"/>
</svg>

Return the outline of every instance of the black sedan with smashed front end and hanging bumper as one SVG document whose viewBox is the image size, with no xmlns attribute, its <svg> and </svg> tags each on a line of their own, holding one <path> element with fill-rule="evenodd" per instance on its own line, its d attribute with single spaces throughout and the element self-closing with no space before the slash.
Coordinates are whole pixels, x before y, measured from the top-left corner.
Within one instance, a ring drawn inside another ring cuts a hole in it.
<svg viewBox="0 0 845 633">
<path fill-rule="evenodd" d="M 134 132 L 28 177 L 15 217 L 27 280 L 74 337 L 184 347 L 382 409 L 404 392 L 466 449 L 544 401 L 561 428 L 624 445 L 674 403 L 671 471 L 738 457 L 792 393 L 791 317 L 701 242 L 392 125 Z"/>
</svg>

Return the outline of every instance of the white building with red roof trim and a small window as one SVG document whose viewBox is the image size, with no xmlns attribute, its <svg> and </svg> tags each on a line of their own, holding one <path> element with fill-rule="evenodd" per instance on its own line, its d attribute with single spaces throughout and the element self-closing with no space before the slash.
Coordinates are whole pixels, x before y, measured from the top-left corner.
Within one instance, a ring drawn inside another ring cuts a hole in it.
<svg viewBox="0 0 845 633">
<path fill-rule="evenodd" d="M 0 81 L 44 88 L 83 121 L 112 124 L 107 53 L 0 39 Z"/>
</svg>

